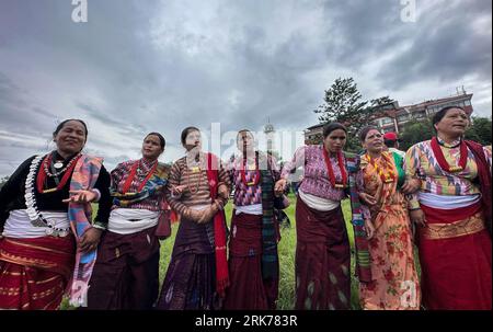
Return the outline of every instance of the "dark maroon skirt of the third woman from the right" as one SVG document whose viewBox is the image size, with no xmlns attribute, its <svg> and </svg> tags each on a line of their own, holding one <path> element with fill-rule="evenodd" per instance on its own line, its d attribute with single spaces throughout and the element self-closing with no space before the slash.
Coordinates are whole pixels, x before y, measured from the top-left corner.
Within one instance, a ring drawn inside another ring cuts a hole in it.
<svg viewBox="0 0 493 332">
<path fill-rule="evenodd" d="M 351 309 L 351 248 L 341 206 L 296 203 L 296 309 Z"/>
</svg>

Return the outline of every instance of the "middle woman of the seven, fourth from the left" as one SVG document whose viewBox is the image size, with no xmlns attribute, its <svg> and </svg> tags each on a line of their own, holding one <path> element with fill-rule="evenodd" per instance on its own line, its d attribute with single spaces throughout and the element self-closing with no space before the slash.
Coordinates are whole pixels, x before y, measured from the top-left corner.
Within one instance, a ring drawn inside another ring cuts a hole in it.
<svg viewBox="0 0 493 332">
<path fill-rule="evenodd" d="M 240 153 L 228 164 L 234 185 L 234 209 L 229 240 L 227 310 L 274 310 L 279 285 L 277 242 L 279 225 L 274 214 L 274 183 L 280 176 L 275 159 L 255 151 L 250 130 L 237 136 Z"/>
</svg>

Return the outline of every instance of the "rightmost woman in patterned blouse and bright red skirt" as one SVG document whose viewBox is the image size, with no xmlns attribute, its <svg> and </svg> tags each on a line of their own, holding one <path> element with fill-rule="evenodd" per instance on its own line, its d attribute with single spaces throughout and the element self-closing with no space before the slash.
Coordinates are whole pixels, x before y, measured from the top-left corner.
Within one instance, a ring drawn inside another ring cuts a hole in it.
<svg viewBox="0 0 493 332">
<path fill-rule="evenodd" d="M 406 152 L 406 175 L 421 180 L 411 219 L 426 309 L 492 309 L 491 151 L 463 139 L 468 123 L 461 107 L 445 107 L 436 136 Z"/>
</svg>

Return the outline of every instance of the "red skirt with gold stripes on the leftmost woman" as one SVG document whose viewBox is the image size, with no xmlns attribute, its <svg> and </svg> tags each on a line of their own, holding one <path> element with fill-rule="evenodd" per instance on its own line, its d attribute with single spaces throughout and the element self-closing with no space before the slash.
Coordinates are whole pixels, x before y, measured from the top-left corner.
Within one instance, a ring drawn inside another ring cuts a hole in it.
<svg viewBox="0 0 493 332">
<path fill-rule="evenodd" d="M 0 309 L 55 310 L 73 272 L 72 236 L 0 240 Z"/>
</svg>

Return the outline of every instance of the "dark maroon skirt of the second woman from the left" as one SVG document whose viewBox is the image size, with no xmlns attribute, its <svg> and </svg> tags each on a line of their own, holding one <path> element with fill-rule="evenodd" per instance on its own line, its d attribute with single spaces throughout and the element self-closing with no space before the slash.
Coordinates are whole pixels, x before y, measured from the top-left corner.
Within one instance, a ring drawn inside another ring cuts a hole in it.
<svg viewBox="0 0 493 332">
<path fill-rule="evenodd" d="M 159 291 L 159 240 L 154 227 L 134 234 L 106 231 L 88 291 L 88 308 L 152 309 Z"/>
</svg>

